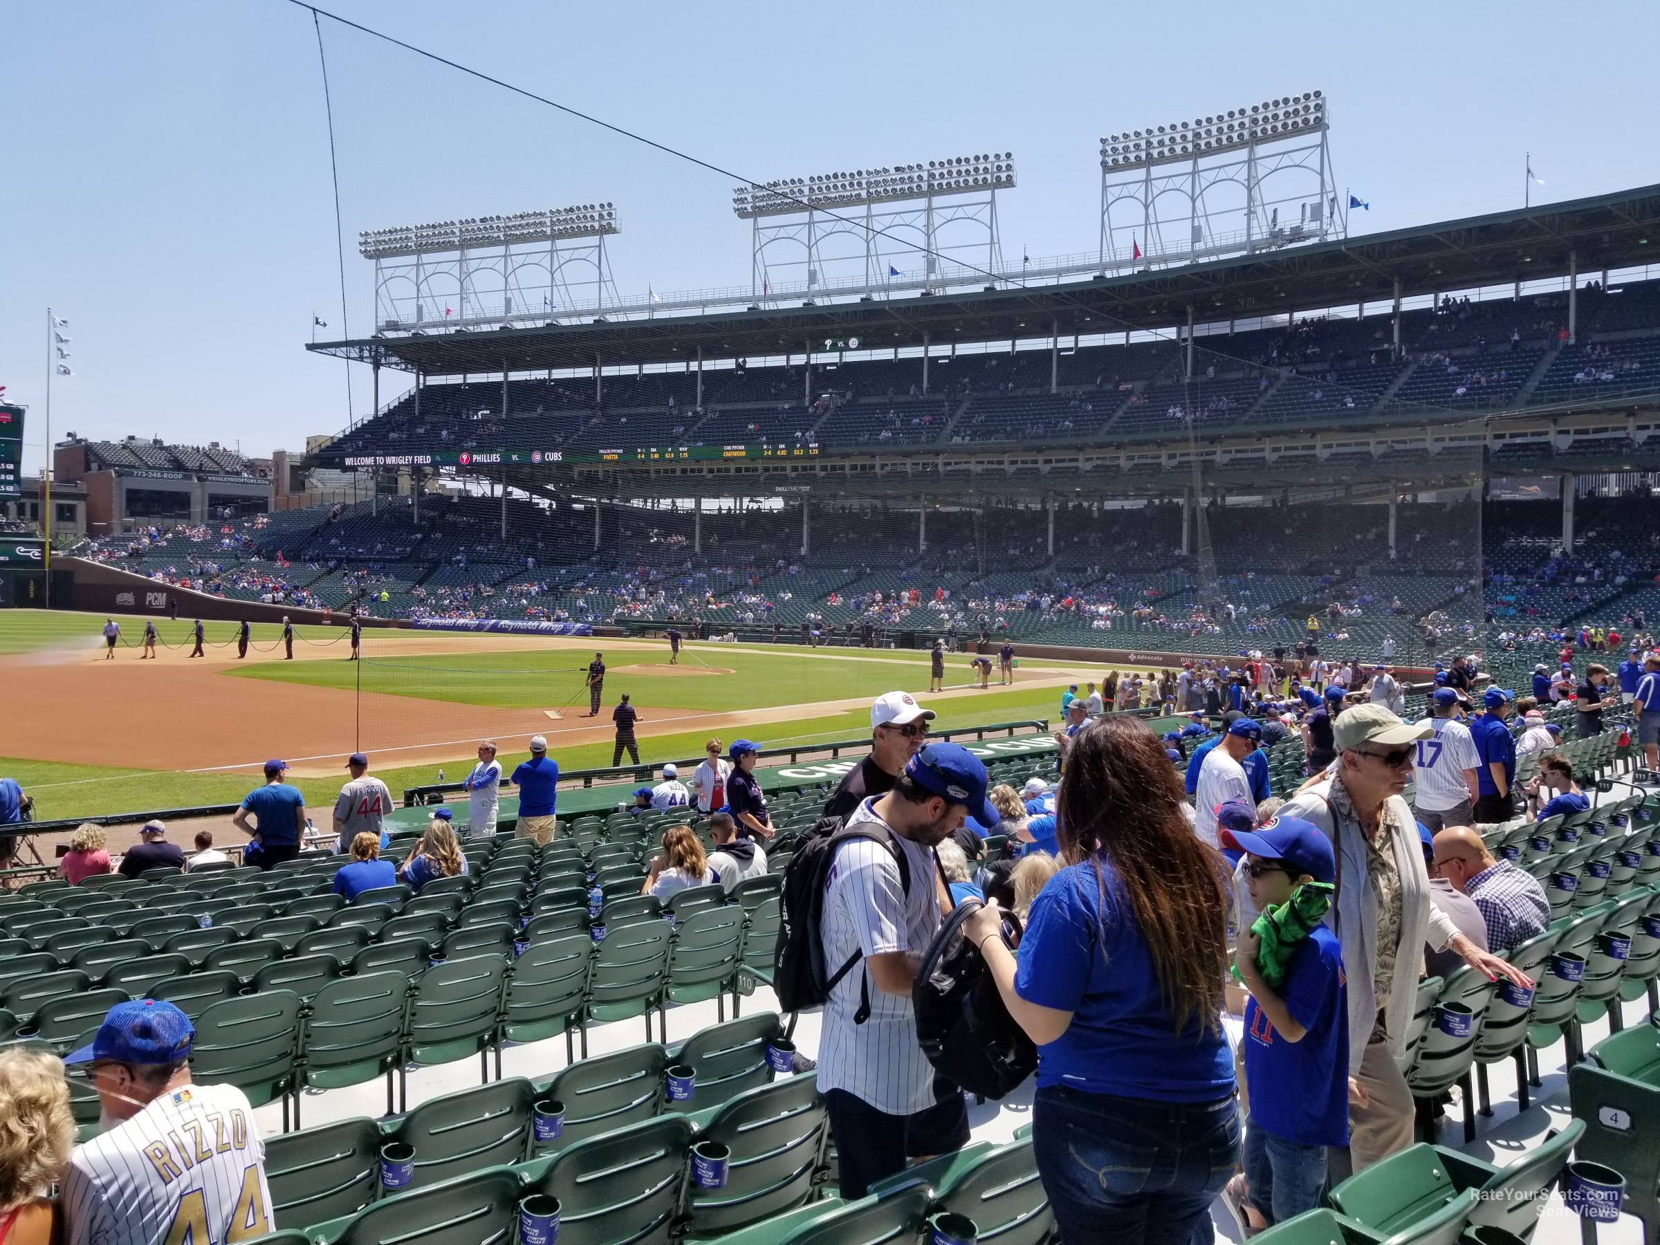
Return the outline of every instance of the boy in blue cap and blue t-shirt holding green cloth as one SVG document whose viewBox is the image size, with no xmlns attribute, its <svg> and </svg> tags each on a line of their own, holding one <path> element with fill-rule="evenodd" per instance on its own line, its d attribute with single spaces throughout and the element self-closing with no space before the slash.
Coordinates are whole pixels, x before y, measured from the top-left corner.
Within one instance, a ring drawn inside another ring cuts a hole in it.
<svg viewBox="0 0 1660 1245">
<path fill-rule="evenodd" d="M 1318 827 L 1275 817 L 1235 832 L 1245 850 L 1252 905 L 1267 913 L 1305 883 L 1335 883 L 1336 857 Z M 1326 1182 L 1326 1149 L 1348 1145 L 1348 993 L 1343 951 L 1318 918 L 1275 964 L 1258 963 L 1257 930 L 1238 935 L 1245 1004 L 1245 1177 L 1225 1200 L 1243 1230 L 1260 1230 L 1311 1210 Z M 1265 969 L 1283 979 L 1268 984 Z M 1275 971 L 1278 969 L 1278 971 Z"/>
</svg>

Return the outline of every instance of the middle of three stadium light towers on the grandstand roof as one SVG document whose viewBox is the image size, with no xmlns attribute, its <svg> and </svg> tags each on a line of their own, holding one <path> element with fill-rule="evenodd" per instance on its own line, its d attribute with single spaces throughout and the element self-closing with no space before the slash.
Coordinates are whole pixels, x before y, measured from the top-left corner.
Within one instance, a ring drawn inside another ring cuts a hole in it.
<svg viewBox="0 0 1660 1245">
<path fill-rule="evenodd" d="M 735 186 L 732 211 L 752 226 L 750 297 L 885 294 L 996 272 L 998 191 L 1009 189 L 1011 151 Z M 974 269 L 948 274 L 940 261 L 951 256 Z"/>
</svg>

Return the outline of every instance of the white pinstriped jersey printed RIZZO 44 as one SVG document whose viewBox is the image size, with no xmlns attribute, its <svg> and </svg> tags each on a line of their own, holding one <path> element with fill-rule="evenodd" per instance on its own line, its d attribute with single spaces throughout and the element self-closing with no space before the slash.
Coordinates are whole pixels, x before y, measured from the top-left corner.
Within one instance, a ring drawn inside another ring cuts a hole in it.
<svg viewBox="0 0 1660 1245">
<path fill-rule="evenodd" d="M 226 1245 L 272 1230 L 266 1145 L 234 1086 L 184 1086 L 76 1147 L 70 1245 Z"/>
</svg>

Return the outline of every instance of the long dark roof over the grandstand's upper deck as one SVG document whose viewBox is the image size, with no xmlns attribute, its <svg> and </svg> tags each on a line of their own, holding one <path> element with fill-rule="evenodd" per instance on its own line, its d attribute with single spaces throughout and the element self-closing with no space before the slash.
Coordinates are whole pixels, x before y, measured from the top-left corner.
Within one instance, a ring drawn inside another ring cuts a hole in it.
<svg viewBox="0 0 1660 1245">
<path fill-rule="evenodd" d="M 1570 259 L 1572 256 L 1572 259 Z M 1283 251 L 1096 277 L 1033 289 L 988 289 L 823 305 L 769 305 L 702 315 L 478 329 L 312 342 L 309 350 L 427 375 L 684 364 L 800 350 L 827 337 L 860 349 L 935 347 L 1170 329 L 1194 307 L 1200 324 L 1288 309 L 1403 297 L 1559 277 L 1660 261 L 1660 184 L 1570 203 L 1472 216 Z"/>
</svg>

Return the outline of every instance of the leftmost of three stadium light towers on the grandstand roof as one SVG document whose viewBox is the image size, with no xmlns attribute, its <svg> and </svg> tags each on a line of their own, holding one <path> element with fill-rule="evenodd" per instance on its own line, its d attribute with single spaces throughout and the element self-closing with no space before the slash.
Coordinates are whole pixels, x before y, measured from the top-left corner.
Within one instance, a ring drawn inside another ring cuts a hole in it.
<svg viewBox="0 0 1660 1245">
<path fill-rule="evenodd" d="M 365 229 L 382 332 L 548 320 L 618 302 L 606 237 L 616 204 Z"/>
</svg>

